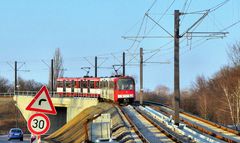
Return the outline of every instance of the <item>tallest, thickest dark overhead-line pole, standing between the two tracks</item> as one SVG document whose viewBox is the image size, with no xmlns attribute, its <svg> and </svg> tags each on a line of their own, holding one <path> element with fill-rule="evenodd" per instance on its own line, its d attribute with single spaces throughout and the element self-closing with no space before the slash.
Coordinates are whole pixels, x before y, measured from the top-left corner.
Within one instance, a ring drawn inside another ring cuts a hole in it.
<svg viewBox="0 0 240 143">
<path fill-rule="evenodd" d="M 180 76 L 179 76 L 179 10 L 174 11 L 174 121 L 179 125 Z"/>
</svg>

